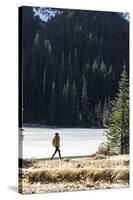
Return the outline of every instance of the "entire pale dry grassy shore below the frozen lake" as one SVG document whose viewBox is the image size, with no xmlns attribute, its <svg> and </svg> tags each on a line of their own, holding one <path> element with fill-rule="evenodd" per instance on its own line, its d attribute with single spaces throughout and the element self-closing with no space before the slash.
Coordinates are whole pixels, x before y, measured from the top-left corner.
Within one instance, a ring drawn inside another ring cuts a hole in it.
<svg viewBox="0 0 133 200">
<path fill-rule="evenodd" d="M 20 192 L 25 194 L 129 186 L 129 155 L 22 162 L 19 186 Z"/>
</svg>

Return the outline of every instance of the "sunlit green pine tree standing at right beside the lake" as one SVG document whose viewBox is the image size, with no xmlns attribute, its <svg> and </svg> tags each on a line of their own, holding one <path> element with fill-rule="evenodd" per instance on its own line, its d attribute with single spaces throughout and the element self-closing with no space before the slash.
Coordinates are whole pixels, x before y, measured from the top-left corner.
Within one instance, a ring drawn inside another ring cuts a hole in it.
<svg viewBox="0 0 133 200">
<path fill-rule="evenodd" d="M 129 92 L 126 67 L 121 74 L 119 92 L 112 102 L 109 130 L 106 132 L 110 152 L 129 153 Z"/>
</svg>

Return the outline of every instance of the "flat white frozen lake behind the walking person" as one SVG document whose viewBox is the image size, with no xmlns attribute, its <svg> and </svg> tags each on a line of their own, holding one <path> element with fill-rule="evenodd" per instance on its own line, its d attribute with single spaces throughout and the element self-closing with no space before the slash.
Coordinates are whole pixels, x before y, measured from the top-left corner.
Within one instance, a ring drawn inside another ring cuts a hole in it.
<svg viewBox="0 0 133 200">
<path fill-rule="evenodd" d="M 90 155 L 105 141 L 104 131 L 88 128 L 24 128 L 22 155 L 19 157 L 50 158 L 55 150 L 52 146 L 55 132 L 60 135 L 62 157 Z M 58 157 L 58 153 L 55 157 Z"/>
</svg>

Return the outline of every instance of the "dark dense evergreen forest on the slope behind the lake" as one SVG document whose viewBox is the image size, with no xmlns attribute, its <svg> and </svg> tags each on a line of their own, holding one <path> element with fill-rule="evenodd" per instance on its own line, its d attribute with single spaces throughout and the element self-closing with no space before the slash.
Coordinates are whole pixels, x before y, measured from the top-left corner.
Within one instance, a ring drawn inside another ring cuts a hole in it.
<svg viewBox="0 0 133 200">
<path fill-rule="evenodd" d="M 54 16 L 42 20 L 48 11 Z M 22 28 L 23 122 L 106 126 L 123 64 L 129 69 L 129 21 L 115 12 L 24 7 Z"/>
</svg>

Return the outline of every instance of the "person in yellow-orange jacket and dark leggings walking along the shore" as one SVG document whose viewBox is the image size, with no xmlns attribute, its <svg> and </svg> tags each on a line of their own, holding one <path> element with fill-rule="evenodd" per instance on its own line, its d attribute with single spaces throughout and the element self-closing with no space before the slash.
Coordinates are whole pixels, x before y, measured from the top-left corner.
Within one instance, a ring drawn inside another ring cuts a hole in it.
<svg viewBox="0 0 133 200">
<path fill-rule="evenodd" d="M 61 153 L 60 153 L 60 136 L 59 136 L 59 133 L 55 133 L 55 136 L 54 136 L 54 138 L 52 140 L 52 144 L 55 147 L 55 152 L 52 155 L 51 160 L 53 159 L 53 157 L 55 156 L 55 154 L 57 153 L 57 151 L 59 153 L 60 160 L 62 160 Z"/>
</svg>

